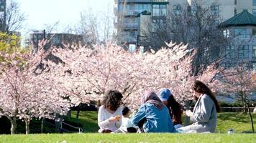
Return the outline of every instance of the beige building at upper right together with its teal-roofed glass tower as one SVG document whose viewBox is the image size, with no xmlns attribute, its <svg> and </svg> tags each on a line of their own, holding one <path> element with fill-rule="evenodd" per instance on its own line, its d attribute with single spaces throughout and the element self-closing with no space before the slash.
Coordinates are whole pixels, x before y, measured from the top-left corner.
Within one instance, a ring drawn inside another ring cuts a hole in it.
<svg viewBox="0 0 256 143">
<path fill-rule="evenodd" d="M 221 66 L 230 68 L 245 62 L 256 71 L 256 0 L 169 0 L 168 9 L 180 14 L 195 2 L 219 15 L 217 24 L 230 40 L 229 46 L 221 47 L 219 56 L 226 56 Z"/>
</svg>

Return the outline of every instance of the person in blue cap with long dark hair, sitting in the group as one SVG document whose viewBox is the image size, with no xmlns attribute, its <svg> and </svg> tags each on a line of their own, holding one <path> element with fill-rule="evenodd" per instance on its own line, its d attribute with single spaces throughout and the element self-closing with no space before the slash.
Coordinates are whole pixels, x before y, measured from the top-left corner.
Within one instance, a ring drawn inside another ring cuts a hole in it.
<svg viewBox="0 0 256 143">
<path fill-rule="evenodd" d="M 157 96 L 160 98 L 163 104 L 168 107 L 170 117 L 172 117 L 173 119 L 173 125 L 177 125 L 177 127 L 180 127 L 182 124 L 182 111 L 180 108 L 180 104 L 174 99 L 173 93 L 170 91 L 170 89 L 162 89 L 160 90 L 160 92 L 158 92 Z"/>
</svg>

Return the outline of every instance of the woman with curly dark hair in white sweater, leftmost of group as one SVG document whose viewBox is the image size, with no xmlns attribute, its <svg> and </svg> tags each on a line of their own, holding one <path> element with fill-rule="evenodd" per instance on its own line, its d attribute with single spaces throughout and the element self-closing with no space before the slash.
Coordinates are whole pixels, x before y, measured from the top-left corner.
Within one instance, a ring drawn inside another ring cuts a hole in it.
<svg viewBox="0 0 256 143">
<path fill-rule="evenodd" d="M 104 96 L 101 107 L 99 107 L 98 124 L 100 133 L 110 133 L 119 129 L 122 117 L 122 94 L 110 90 Z"/>
</svg>

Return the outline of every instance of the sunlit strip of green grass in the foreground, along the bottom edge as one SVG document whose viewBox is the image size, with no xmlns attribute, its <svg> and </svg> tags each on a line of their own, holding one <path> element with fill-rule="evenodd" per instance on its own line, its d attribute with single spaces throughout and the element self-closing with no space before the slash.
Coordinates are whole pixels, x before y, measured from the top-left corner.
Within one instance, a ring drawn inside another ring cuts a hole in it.
<svg viewBox="0 0 256 143">
<path fill-rule="evenodd" d="M 255 142 L 256 134 L 18 134 L 1 135 L 0 142 Z"/>
</svg>

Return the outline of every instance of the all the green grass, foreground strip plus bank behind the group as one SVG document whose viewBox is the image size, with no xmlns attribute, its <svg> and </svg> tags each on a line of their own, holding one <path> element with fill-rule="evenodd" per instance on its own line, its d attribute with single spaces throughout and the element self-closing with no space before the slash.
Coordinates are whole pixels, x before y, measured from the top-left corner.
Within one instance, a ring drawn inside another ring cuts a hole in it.
<svg viewBox="0 0 256 143">
<path fill-rule="evenodd" d="M 76 112 L 72 112 L 71 120 L 76 122 Z M 256 114 L 254 114 L 256 120 Z M 97 112 L 81 112 L 78 123 L 83 125 L 82 134 L 15 134 L 0 135 L 0 143 L 8 142 L 255 142 L 256 134 L 219 134 L 227 133 L 232 128 L 236 133 L 250 131 L 250 119 L 247 114 L 220 113 L 216 134 L 98 134 Z M 256 124 L 256 122 L 255 122 Z"/>
</svg>

